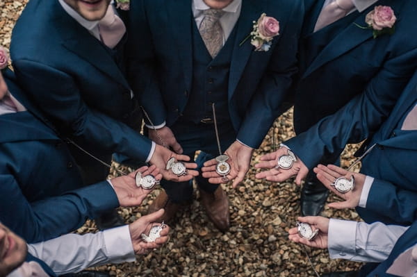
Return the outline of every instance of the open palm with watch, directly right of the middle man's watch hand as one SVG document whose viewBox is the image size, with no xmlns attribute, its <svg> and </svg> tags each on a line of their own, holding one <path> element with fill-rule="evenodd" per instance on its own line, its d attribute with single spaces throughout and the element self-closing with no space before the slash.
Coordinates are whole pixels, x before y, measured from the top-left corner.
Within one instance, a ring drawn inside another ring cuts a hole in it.
<svg viewBox="0 0 417 277">
<path fill-rule="evenodd" d="M 276 168 L 278 165 L 279 157 L 288 154 L 286 147 L 281 147 L 277 151 L 268 153 L 261 157 L 261 162 L 255 165 L 256 168 L 269 169 L 267 171 L 259 172 L 255 175 L 258 179 L 265 178 L 272 182 L 286 181 L 288 178 L 295 176 L 295 183 L 301 185 L 302 179 L 306 178 L 309 173 L 309 169 L 304 165 L 304 162 L 300 158 L 296 157 L 297 160 L 294 162 L 293 167 L 290 169 Z"/>
</svg>

